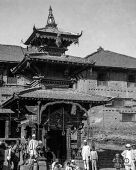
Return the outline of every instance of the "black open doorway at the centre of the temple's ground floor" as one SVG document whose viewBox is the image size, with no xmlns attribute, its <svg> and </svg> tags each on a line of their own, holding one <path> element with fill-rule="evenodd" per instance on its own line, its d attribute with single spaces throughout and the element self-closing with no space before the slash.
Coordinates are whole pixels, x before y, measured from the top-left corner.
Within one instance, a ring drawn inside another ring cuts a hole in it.
<svg viewBox="0 0 136 170">
<path fill-rule="evenodd" d="M 55 154 L 56 158 L 63 163 L 66 160 L 66 133 L 61 130 L 50 130 L 48 132 L 47 147 Z"/>
</svg>

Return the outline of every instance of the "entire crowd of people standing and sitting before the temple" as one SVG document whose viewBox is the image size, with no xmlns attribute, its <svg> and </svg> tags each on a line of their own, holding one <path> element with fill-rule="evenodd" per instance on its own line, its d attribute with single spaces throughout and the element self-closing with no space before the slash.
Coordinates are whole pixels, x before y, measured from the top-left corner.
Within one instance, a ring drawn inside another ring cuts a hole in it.
<svg viewBox="0 0 136 170">
<path fill-rule="evenodd" d="M 117 153 L 113 159 L 114 167 L 117 170 L 122 168 L 124 164 L 126 170 L 136 170 L 136 148 L 135 145 L 127 144 L 126 149 L 121 153 Z M 37 141 L 35 134 L 32 135 L 32 139 L 25 142 L 20 142 L 17 140 L 15 143 L 12 142 L 10 145 L 6 145 L 0 142 L 0 150 L 7 150 L 7 162 L 10 169 L 17 170 L 20 163 L 20 158 L 22 157 L 22 164 L 31 163 L 36 160 L 37 157 L 43 156 L 48 158 L 47 162 L 51 164 L 51 170 L 61 170 L 62 165 L 59 163 L 58 159 L 51 156 L 51 152 L 43 152 L 42 141 Z M 22 154 L 21 154 L 22 153 Z M 50 154 L 49 154 L 50 153 Z M 0 169 L 3 167 L 4 156 L 0 154 Z M 84 163 L 85 170 L 98 170 L 98 154 L 95 150 L 95 146 L 90 147 L 87 140 L 83 141 L 83 146 L 81 150 L 81 156 Z M 52 161 L 51 161 L 52 160 Z M 76 164 L 75 160 L 67 162 L 65 170 L 79 170 L 80 168 Z"/>
</svg>

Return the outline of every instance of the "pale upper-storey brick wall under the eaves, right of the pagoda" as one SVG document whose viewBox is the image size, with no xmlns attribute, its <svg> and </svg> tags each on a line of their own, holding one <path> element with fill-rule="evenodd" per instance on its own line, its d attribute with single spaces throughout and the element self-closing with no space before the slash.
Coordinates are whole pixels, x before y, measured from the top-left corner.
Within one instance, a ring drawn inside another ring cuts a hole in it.
<svg viewBox="0 0 136 170">
<path fill-rule="evenodd" d="M 107 97 L 135 98 L 136 85 L 130 82 L 128 86 L 127 73 L 107 72 L 106 83 L 98 85 L 97 77 L 99 72 L 95 70 L 86 77 L 84 74 L 83 78 L 77 83 L 77 89 L 82 92 Z"/>
</svg>

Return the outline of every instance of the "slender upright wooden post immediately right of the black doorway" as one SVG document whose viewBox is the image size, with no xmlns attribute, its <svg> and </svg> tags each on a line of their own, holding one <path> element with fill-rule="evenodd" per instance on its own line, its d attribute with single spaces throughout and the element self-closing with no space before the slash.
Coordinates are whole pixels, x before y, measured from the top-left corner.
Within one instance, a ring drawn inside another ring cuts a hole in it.
<svg viewBox="0 0 136 170">
<path fill-rule="evenodd" d="M 70 160 L 71 159 L 71 129 L 70 127 L 67 128 L 66 137 L 67 137 L 67 160 Z"/>
</svg>

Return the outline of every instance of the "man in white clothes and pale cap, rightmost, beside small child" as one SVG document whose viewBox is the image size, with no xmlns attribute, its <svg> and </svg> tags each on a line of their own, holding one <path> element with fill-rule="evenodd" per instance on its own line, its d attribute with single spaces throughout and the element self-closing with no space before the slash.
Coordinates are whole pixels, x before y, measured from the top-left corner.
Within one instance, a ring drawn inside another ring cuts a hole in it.
<svg viewBox="0 0 136 170">
<path fill-rule="evenodd" d="M 121 155 L 124 159 L 124 165 L 126 170 L 135 170 L 135 155 L 131 150 L 131 145 L 126 145 L 126 150 L 124 150 Z"/>
</svg>

